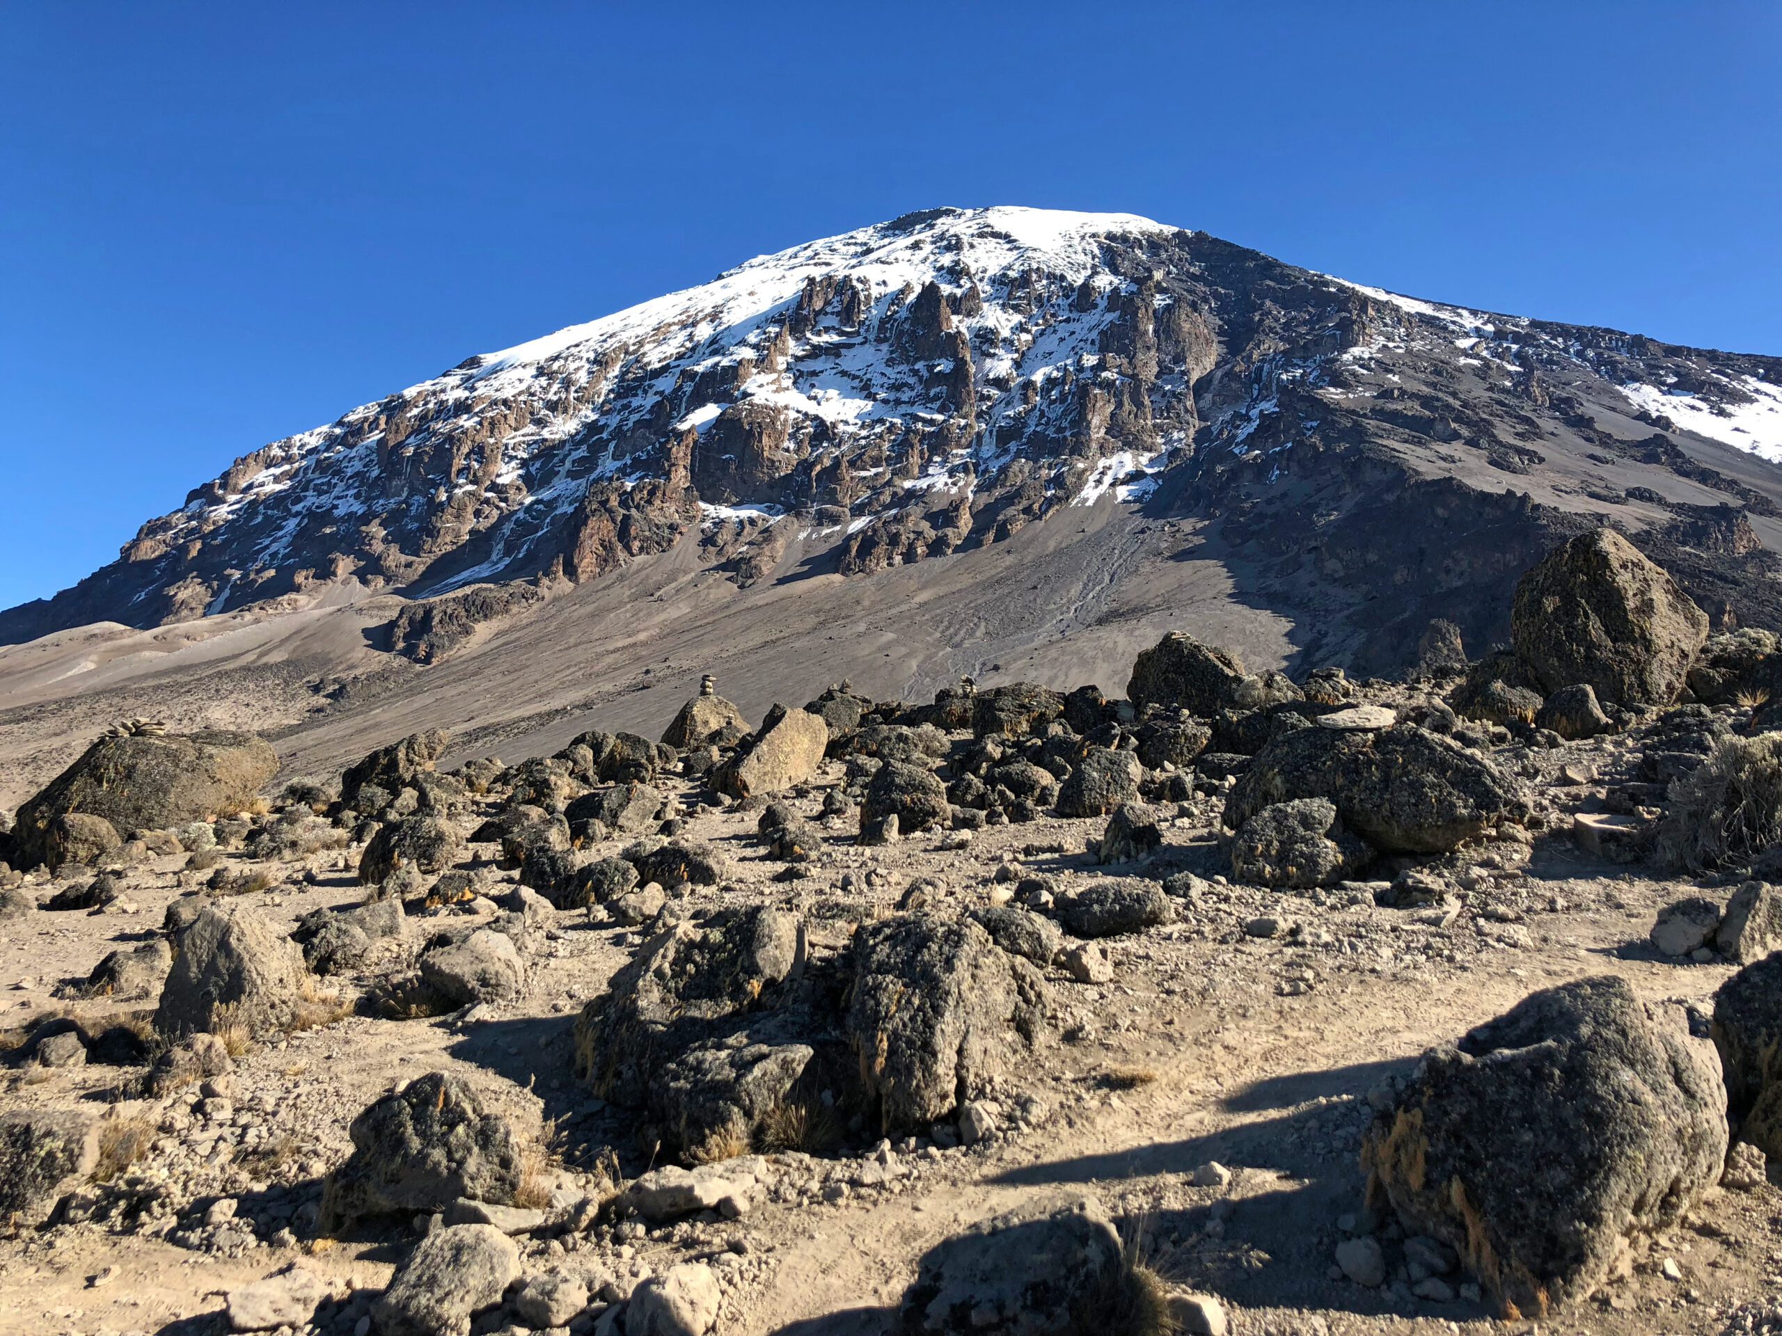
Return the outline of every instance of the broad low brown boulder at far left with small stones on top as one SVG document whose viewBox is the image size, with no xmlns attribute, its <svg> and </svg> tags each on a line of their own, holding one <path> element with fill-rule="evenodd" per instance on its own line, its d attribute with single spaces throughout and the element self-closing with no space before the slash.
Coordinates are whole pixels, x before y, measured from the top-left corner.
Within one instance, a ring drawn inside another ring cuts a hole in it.
<svg viewBox="0 0 1782 1336">
<path fill-rule="evenodd" d="M 166 830 L 239 812 L 278 770 L 278 754 L 249 732 L 123 734 L 100 737 L 75 764 L 18 809 L 21 868 L 59 866 L 61 818 L 91 816 L 116 832 Z M 62 834 L 68 834 L 62 823 Z"/>
</svg>

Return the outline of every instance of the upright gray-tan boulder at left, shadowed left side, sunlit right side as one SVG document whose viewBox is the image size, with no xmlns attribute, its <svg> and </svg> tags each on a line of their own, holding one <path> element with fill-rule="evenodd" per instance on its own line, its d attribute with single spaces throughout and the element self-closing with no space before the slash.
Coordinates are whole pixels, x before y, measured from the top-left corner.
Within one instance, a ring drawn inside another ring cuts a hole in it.
<svg viewBox="0 0 1782 1336">
<path fill-rule="evenodd" d="M 274 1039 L 290 1026 L 305 978 L 296 942 L 244 905 L 212 905 L 175 942 L 155 1031 L 180 1040 L 241 1026 Z"/>
</svg>

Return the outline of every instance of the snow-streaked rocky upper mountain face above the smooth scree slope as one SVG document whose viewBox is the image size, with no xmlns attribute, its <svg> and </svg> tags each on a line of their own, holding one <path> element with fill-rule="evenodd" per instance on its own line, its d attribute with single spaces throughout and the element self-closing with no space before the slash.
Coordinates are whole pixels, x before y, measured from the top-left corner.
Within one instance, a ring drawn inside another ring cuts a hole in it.
<svg viewBox="0 0 1782 1336">
<path fill-rule="evenodd" d="M 405 613 L 390 647 L 429 659 L 683 542 L 738 582 L 793 534 L 864 575 L 1107 501 L 1208 520 L 1198 542 L 1296 606 L 1340 595 L 1385 666 L 1435 615 L 1499 634 L 1520 570 L 1600 518 L 1723 622 L 1773 620 L 1775 460 L 1782 360 L 1413 301 L 1140 217 L 941 208 L 246 454 L 0 615 L 0 643 L 349 581 L 527 586 Z"/>
</svg>

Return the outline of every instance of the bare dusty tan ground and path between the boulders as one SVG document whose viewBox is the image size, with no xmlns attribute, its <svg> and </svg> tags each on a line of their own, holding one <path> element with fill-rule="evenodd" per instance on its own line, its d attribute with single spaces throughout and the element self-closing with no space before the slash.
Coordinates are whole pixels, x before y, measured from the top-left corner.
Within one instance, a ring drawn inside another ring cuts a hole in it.
<svg viewBox="0 0 1782 1336">
<path fill-rule="evenodd" d="M 1410 695 L 1379 693 L 1401 705 Z M 1734 729 L 1743 714 L 1700 711 L 1698 723 Z M 713 885 L 679 887 L 670 919 L 779 905 L 802 916 L 814 960 L 845 953 L 857 925 L 896 912 L 912 884 L 930 910 L 955 914 L 1005 901 L 1025 878 L 1046 878 L 1066 896 L 1110 876 L 1189 875 L 1169 882 L 1171 921 L 1101 941 L 1110 978 L 1080 982 L 1059 964 L 1044 971 L 1048 1024 L 977 1144 L 957 1145 L 952 1126 L 880 1140 L 855 1120 L 811 1153 L 741 1161 L 754 1185 L 736 1218 L 702 1211 L 649 1227 L 590 1208 L 613 1188 L 609 1156 L 629 1177 L 658 1163 L 659 1145 L 640 1138 L 634 1112 L 595 1099 L 577 1078 L 572 1030 L 656 925 L 622 923 L 634 916 L 606 905 L 535 910 L 545 923 L 526 953 L 522 998 L 392 1019 L 380 989 L 412 965 L 429 933 L 494 921 L 495 901 L 513 891 L 517 871 L 499 866 L 499 846 L 470 844 L 463 866 L 476 875 L 476 898 L 435 907 L 415 898 L 405 935 L 326 982 L 346 1015 L 328 1021 L 324 1008 L 315 1028 L 244 1042 L 232 1074 L 157 1099 L 144 1097 L 146 1069 L 128 1042 L 118 1042 L 112 1062 L 100 1044 L 82 1065 L 43 1067 L 30 1056 L 57 1028 L 45 1028 L 48 1017 L 73 1019 L 94 1040 L 118 1026 L 143 1030 L 153 996 L 78 996 L 100 958 L 155 937 L 168 907 L 208 884 L 228 885 L 285 928 L 315 908 L 356 905 L 365 889 L 356 844 L 285 860 L 255 860 L 237 846 L 201 869 L 187 868 L 187 853 L 146 857 L 98 910 L 39 908 L 0 933 L 0 1028 L 18 1046 L 0 1074 L 0 1103 L 105 1112 L 141 1131 L 139 1154 L 118 1153 L 102 1170 L 107 1181 L 78 1190 L 55 1222 L 0 1242 L 0 1331 L 225 1331 L 223 1297 L 294 1261 L 330 1291 L 315 1331 L 369 1329 L 374 1297 L 428 1222 L 323 1233 L 321 1183 L 351 1151 L 351 1119 L 431 1071 L 460 1074 L 549 1151 L 542 1215 L 519 1242 L 524 1274 L 588 1281 L 592 1304 L 570 1331 L 595 1329 L 608 1302 L 683 1261 L 713 1268 L 720 1332 L 889 1331 L 925 1252 L 1060 1188 L 1094 1193 L 1173 1284 L 1217 1295 L 1235 1332 L 1495 1329 L 1495 1309 L 1465 1274 L 1427 1284 L 1406 1268 L 1402 1231 L 1369 1215 L 1358 1163 L 1374 1115 L 1369 1096 L 1390 1090 L 1424 1047 L 1581 976 L 1616 974 L 1647 1001 L 1711 1008 L 1732 967 L 1661 957 L 1648 930 L 1663 905 L 1689 892 L 1725 900 L 1730 887 L 1611 862 L 1593 851 L 1600 841 L 1581 843 L 1574 830 L 1575 812 L 1641 819 L 1652 736 L 1634 729 L 1536 748 L 1500 736 L 1495 759 L 1531 786 L 1527 834 L 1424 860 L 1431 880 L 1401 907 L 1390 903 L 1394 866 L 1369 873 L 1386 880 L 1312 892 L 1230 884 L 1221 778 L 1199 777 L 1192 796 L 1164 805 L 1162 848 L 1101 864 L 1091 851 L 1101 818 L 1048 814 L 861 844 L 855 819 L 823 818 L 825 796 L 845 778 L 829 761 L 788 798 L 822 846 L 809 862 L 788 864 L 757 834 L 759 800 L 732 803 L 700 778 L 665 777 L 675 837 L 709 844 L 722 868 Z M 495 800 L 478 809 L 465 828 Z M 617 853 L 631 839 L 584 855 Z M 242 880 L 253 873 L 262 882 Z M 91 878 L 91 869 L 32 875 L 23 887 L 46 901 Z M 1782 1272 L 1778 1206 L 1770 1185 L 1711 1192 L 1680 1226 L 1636 1242 L 1631 1274 L 1540 1329 L 1771 1329 L 1764 1324 L 1782 1320 L 1766 1307 Z M 1369 1233 L 1388 1265 L 1386 1283 L 1372 1288 L 1333 1265 L 1338 1243 Z M 511 1320 L 497 1315 L 478 1329 Z"/>
</svg>

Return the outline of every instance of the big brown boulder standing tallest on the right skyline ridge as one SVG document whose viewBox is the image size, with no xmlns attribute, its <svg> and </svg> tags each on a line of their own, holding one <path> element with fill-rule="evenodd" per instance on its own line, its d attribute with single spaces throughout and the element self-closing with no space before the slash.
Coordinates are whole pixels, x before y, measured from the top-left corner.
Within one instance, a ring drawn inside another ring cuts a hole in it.
<svg viewBox="0 0 1782 1336">
<path fill-rule="evenodd" d="M 1547 691 L 1582 682 L 1616 705 L 1668 705 L 1707 641 L 1707 616 L 1613 529 L 1579 534 L 1516 584 L 1516 656 Z"/>
</svg>

